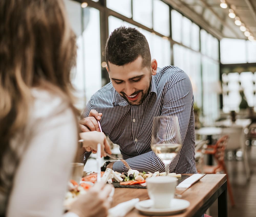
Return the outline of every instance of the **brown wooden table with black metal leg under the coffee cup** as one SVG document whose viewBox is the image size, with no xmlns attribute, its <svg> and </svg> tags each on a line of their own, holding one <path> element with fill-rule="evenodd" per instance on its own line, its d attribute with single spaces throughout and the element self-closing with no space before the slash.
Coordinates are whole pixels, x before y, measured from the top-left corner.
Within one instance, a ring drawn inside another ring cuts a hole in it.
<svg viewBox="0 0 256 217">
<path fill-rule="evenodd" d="M 191 174 L 185 174 L 191 175 Z M 218 199 L 218 216 L 227 217 L 227 176 L 226 174 L 206 174 L 197 183 L 188 189 L 176 189 L 184 200 L 190 202 L 185 212 L 171 215 L 172 217 L 201 217 L 203 213 Z M 118 203 L 139 198 L 149 199 L 147 189 L 138 188 L 115 188 L 112 206 Z M 142 217 L 136 209 L 133 209 L 125 217 Z"/>
</svg>

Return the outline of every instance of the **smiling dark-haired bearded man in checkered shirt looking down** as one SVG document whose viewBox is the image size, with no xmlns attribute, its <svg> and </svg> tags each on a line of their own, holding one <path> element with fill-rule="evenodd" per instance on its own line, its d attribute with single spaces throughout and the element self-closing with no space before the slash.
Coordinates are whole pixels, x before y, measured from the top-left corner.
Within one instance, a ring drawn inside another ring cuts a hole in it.
<svg viewBox="0 0 256 217">
<path fill-rule="evenodd" d="M 163 172 L 164 164 L 151 150 L 153 117 L 178 116 L 183 147 L 169 166 L 176 173 L 196 173 L 193 91 L 188 76 L 175 66 L 157 68 L 148 42 L 134 28 L 115 29 L 105 47 L 110 83 L 97 91 L 84 109 L 82 131 L 102 131 L 120 146 L 132 169 Z M 84 155 L 84 161 L 90 152 Z M 121 161 L 107 165 L 125 172 Z"/>
</svg>

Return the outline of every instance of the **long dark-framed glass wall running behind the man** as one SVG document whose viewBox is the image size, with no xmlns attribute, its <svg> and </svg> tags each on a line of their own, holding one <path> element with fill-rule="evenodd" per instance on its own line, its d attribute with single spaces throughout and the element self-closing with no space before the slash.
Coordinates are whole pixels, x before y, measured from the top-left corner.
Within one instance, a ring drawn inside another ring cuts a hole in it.
<svg viewBox="0 0 256 217">
<path fill-rule="evenodd" d="M 65 0 L 71 25 L 77 34 L 77 67 L 73 69 L 72 80 L 81 99 L 79 108 L 83 108 L 91 95 L 101 88 L 104 76 L 101 61 L 106 40 L 101 37 L 123 25 L 137 28 L 145 35 L 152 59 L 157 60 L 159 67 L 173 64 L 188 74 L 195 103 L 204 112 L 201 114 L 206 117 L 206 124 L 218 116 L 219 90 L 209 90 L 219 80 L 219 41 L 216 38 L 200 30 L 196 23 L 178 11 L 172 9 L 170 14 L 169 5 L 161 0 L 106 0 L 106 7 L 101 2 L 94 2 L 88 2 L 88 6 L 82 8 L 76 1 Z M 100 29 L 102 25 L 106 29 Z M 254 56 L 250 58 L 253 60 Z M 208 85 L 202 86 L 202 81 Z M 202 103 L 204 99 L 209 102 Z"/>
</svg>

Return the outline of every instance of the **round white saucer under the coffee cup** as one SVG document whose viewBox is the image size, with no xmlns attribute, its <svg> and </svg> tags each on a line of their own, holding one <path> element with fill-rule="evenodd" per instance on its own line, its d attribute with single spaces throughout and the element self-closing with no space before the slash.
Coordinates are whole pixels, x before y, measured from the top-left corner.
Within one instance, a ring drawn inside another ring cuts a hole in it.
<svg viewBox="0 0 256 217">
<path fill-rule="evenodd" d="M 172 199 L 170 208 L 153 208 L 152 200 L 142 200 L 135 208 L 145 215 L 173 215 L 184 211 L 190 205 L 189 201 L 183 199 Z"/>
</svg>

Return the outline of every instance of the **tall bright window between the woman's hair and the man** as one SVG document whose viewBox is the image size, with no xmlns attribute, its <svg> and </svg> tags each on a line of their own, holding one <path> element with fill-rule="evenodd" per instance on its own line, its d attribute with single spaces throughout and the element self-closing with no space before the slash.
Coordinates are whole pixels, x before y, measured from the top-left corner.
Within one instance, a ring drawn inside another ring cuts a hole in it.
<svg viewBox="0 0 256 217">
<path fill-rule="evenodd" d="M 72 83 L 83 109 L 91 95 L 101 88 L 100 14 L 96 8 L 65 0 L 67 13 L 77 35 L 77 66 L 72 69 Z M 93 33 L 93 34 L 92 34 Z"/>
</svg>

